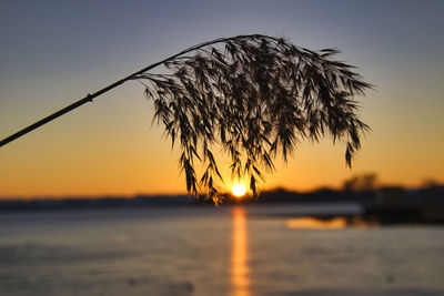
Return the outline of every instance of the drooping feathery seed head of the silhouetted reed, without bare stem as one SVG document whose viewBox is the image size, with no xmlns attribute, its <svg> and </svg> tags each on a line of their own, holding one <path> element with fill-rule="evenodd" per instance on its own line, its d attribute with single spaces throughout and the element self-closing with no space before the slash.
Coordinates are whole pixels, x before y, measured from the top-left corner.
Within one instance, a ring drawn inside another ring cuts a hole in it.
<svg viewBox="0 0 444 296">
<path fill-rule="evenodd" d="M 204 192 L 218 204 L 222 175 L 215 145 L 231 157 L 233 177 L 248 176 L 253 195 L 262 171 L 274 171 L 279 154 L 286 162 L 302 139 L 344 140 L 351 166 L 367 130 L 353 96 L 371 85 L 352 65 L 331 59 L 336 53 L 268 35 L 238 35 L 184 50 L 164 62 L 168 73 L 132 79 L 147 86 L 154 119 L 164 124 L 173 145 L 180 143 L 186 190 Z M 203 164 L 201 175 L 195 160 Z"/>
</svg>

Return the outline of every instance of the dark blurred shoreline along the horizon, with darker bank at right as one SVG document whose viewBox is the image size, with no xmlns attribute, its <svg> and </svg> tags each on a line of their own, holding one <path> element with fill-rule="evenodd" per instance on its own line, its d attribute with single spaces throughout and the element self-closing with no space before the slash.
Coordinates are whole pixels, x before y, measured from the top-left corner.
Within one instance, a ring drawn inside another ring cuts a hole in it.
<svg viewBox="0 0 444 296">
<path fill-rule="evenodd" d="M 310 193 L 297 193 L 278 188 L 262 192 L 256 200 L 238 198 L 225 195 L 222 206 L 234 204 L 272 205 L 272 204 L 306 204 L 351 202 L 362 206 L 359 218 L 376 221 L 379 224 L 421 223 L 444 224 L 444 187 L 436 186 L 415 191 L 401 187 L 383 187 L 374 191 L 335 191 L 322 188 Z M 152 206 L 202 206 L 211 205 L 211 200 L 204 196 L 188 195 L 137 195 L 132 197 L 103 196 L 78 198 L 39 198 L 30 201 L 0 201 L 0 214 L 6 212 L 26 211 L 61 211 L 88 208 L 143 208 Z M 340 214 L 340 213 L 337 213 Z M 334 214 L 320 218 L 334 218 Z M 356 215 L 349 215 L 349 220 Z"/>
</svg>

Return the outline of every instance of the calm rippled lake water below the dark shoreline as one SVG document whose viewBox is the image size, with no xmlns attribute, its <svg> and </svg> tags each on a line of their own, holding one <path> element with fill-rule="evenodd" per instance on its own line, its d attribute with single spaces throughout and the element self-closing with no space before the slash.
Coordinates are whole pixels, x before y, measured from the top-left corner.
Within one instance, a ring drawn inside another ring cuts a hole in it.
<svg viewBox="0 0 444 296">
<path fill-rule="evenodd" d="M 329 211 L 0 214 L 0 295 L 444 295 L 444 228 L 294 220 Z"/>
</svg>

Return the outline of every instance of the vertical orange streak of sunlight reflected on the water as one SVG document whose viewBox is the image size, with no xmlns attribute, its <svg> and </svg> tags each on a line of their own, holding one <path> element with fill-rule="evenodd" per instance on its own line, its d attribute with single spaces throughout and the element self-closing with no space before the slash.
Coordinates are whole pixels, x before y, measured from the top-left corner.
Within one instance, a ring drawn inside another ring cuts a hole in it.
<svg viewBox="0 0 444 296">
<path fill-rule="evenodd" d="M 250 296 L 249 242 L 245 208 L 232 210 L 231 287 L 233 296 Z"/>
</svg>

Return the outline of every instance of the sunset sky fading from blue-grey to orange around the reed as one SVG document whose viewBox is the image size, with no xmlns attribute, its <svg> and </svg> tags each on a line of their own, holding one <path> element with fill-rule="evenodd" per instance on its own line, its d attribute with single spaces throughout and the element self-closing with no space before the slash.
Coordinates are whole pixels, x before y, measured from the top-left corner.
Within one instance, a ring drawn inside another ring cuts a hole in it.
<svg viewBox="0 0 444 296">
<path fill-rule="evenodd" d="M 375 89 L 372 131 L 345 166 L 342 143 L 301 143 L 262 188 L 444 182 L 444 1 L 1 1 L 0 137 L 143 67 L 219 37 L 261 33 L 337 48 Z M 128 82 L 0 147 L 0 198 L 185 193 L 179 151 Z M 225 180 L 230 186 L 230 178 Z"/>
</svg>

